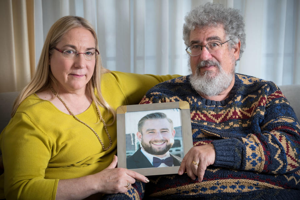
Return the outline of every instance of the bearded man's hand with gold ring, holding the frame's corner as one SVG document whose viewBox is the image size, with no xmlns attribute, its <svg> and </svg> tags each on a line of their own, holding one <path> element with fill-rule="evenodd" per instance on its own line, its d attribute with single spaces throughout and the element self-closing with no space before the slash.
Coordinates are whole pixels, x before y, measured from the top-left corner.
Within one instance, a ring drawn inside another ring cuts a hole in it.
<svg viewBox="0 0 300 200">
<path fill-rule="evenodd" d="M 186 170 L 189 177 L 195 180 L 198 176 L 198 181 L 201 182 L 206 168 L 215 162 L 215 158 L 213 144 L 192 147 L 184 156 L 178 174 L 182 175 Z"/>
</svg>

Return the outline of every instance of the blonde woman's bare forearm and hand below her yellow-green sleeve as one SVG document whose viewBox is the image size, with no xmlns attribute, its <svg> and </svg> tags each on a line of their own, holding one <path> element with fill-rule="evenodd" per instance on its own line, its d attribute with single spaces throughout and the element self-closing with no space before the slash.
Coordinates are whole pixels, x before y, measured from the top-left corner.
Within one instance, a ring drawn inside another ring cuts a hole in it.
<svg viewBox="0 0 300 200">
<path fill-rule="evenodd" d="M 96 174 L 62 179 L 58 181 L 56 199 L 84 199 L 95 193 L 126 193 L 131 184 L 138 179 L 148 183 L 149 180 L 142 174 L 124 168 L 115 168 L 118 163 L 117 156 L 114 156 L 110 165 Z"/>
</svg>

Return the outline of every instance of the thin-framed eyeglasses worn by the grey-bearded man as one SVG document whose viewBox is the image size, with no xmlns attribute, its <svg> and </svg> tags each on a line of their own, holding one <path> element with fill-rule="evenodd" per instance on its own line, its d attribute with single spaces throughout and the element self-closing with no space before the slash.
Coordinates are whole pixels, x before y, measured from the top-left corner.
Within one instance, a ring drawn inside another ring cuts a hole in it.
<svg viewBox="0 0 300 200">
<path fill-rule="evenodd" d="M 231 40 L 231 39 L 229 39 Z M 227 40 L 226 42 L 228 42 L 229 40 Z M 207 51 L 209 53 L 215 53 L 217 52 L 221 47 L 222 44 L 226 43 L 226 42 L 208 42 L 206 45 L 191 45 L 188 46 L 185 50 L 187 51 L 188 54 L 190 54 L 190 56 L 199 56 L 201 54 L 202 51 L 202 47 L 206 47 Z"/>
</svg>

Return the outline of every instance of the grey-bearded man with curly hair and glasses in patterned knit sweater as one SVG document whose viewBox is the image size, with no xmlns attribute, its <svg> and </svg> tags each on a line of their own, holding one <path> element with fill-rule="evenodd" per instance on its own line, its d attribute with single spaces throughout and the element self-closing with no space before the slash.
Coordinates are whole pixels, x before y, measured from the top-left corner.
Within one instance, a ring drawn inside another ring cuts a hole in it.
<svg viewBox="0 0 300 200">
<path fill-rule="evenodd" d="M 179 175 L 153 178 L 146 192 L 158 199 L 300 199 L 293 109 L 274 83 L 234 73 L 245 48 L 238 10 L 212 3 L 192 10 L 183 39 L 192 74 L 158 84 L 141 103 L 189 102 L 194 147 Z"/>
</svg>

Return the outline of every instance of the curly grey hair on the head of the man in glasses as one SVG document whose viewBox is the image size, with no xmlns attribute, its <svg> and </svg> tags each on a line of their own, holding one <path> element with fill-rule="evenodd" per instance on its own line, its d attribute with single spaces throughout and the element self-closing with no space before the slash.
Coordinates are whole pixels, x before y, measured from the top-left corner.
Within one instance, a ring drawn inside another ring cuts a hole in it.
<svg viewBox="0 0 300 200">
<path fill-rule="evenodd" d="M 245 24 L 242 15 L 238 9 L 224 8 L 222 4 L 206 3 L 187 13 L 183 24 L 183 40 L 186 46 L 189 46 L 189 37 L 191 30 L 196 27 L 216 27 L 222 24 L 226 33 L 226 40 L 231 46 L 241 41 L 240 55 L 242 57 L 246 46 Z"/>
</svg>

